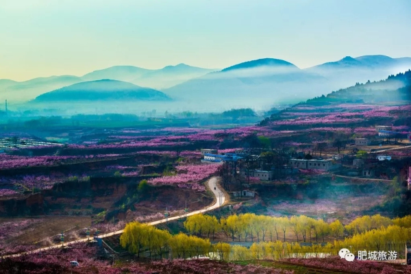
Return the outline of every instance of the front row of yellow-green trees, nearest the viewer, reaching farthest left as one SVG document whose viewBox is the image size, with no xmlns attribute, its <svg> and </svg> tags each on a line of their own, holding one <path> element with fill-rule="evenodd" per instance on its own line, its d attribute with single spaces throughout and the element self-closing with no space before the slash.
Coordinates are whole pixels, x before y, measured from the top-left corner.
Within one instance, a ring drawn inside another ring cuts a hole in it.
<svg viewBox="0 0 411 274">
<path fill-rule="evenodd" d="M 169 232 L 155 227 L 129 223 L 125 227 L 120 242 L 123 248 L 137 256 L 144 253 L 153 258 L 199 258 L 210 257 L 214 260 L 279 260 L 282 258 L 308 258 L 336 256 L 342 248 L 349 248 L 351 253 L 358 251 L 397 251 L 402 255 L 403 248 L 411 236 L 410 227 L 389 225 L 371 229 L 361 234 L 334 240 L 326 245 L 300 245 L 298 242 L 282 242 L 280 240 L 253 242 L 251 247 L 229 245 L 218 242 L 214 245 L 208 239 L 188 236 L 181 232 L 171 235 Z"/>
</svg>

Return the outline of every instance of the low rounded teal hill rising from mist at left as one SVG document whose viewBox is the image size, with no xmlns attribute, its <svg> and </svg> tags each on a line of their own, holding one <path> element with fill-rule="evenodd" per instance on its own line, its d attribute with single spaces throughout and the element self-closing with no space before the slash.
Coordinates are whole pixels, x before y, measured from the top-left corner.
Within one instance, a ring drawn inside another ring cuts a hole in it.
<svg viewBox="0 0 411 274">
<path fill-rule="evenodd" d="M 103 79 L 82 82 L 42 94 L 34 102 L 70 101 L 168 101 L 169 97 L 152 88 L 142 88 L 128 82 Z"/>
</svg>

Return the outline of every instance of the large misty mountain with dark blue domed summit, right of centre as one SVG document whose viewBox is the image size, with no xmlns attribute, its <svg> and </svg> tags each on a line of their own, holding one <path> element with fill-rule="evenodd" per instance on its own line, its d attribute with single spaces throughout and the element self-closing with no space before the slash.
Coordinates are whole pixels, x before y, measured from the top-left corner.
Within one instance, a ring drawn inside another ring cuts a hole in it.
<svg viewBox="0 0 411 274">
<path fill-rule="evenodd" d="M 264 58 L 235 64 L 163 91 L 192 104 L 254 108 L 275 99 L 298 101 L 299 92 L 306 92 L 308 99 L 316 82 L 323 82 L 323 77 L 284 60 Z"/>
</svg>

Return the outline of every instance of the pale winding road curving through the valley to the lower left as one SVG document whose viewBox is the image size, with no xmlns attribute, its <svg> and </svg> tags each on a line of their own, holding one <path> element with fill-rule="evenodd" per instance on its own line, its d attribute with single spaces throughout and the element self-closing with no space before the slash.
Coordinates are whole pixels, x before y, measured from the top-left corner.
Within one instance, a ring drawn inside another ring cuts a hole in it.
<svg viewBox="0 0 411 274">
<path fill-rule="evenodd" d="M 224 192 L 217 185 L 217 177 L 212 177 L 211 179 L 209 179 L 207 184 L 208 184 L 208 187 L 210 188 L 210 190 L 212 191 L 213 195 L 216 197 L 214 204 L 212 204 L 211 206 L 208 206 L 207 208 L 203 208 L 202 210 L 196 210 L 196 211 L 188 212 L 187 214 L 182 214 L 182 215 L 170 217 L 168 219 L 168 221 L 182 219 L 182 218 L 185 218 L 186 216 L 191 216 L 191 215 L 195 215 L 195 214 L 199 214 L 199 213 L 203 213 L 203 212 L 208 212 L 210 210 L 214 210 L 216 208 L 219 208 L 219 207 L 223 206 L 223 204 L 225 202 L 225 196 L 224 196 Z M 153 221 L 151 223 L 147 223 L 147 225 L 158 225 L 160 223 L 166 223 L 166 219 Z M 107 238 L 107 237 L 110 237 L 110 236 L 122 234 L 123 231 L 124 231 L 124 229 L 121 229 L 121 230 L 117 230 L 116 232 L 101 234 L 101 235 L 99 235 L 99 238 Z M 72 240 L 71 242 L 64 242 L 64 245 L 71 245 L 71 244 L 76 243 L 76 242 L 87 242 L 87 241 L 88 241 L 88 238 L 81 238 L 81 239 L 78 239 L 78 240 Z M 34 249 L 33 251 L 29 251 L 29 252 L 25 252 L 25 253 L 36 253 L 36 252 L 45 251 L 45 250 L 49 250 L 49 249 L 60 248 L 60 247 L 62 247 L 61 244 L 51 245 L 50 247 L 43 247 L 41 249 Z M 18 253 L 18 254 L 14 254 L 14 255 L 10 255 L 10 256 L 3 256 L 3 258 L 19 257 L 19 256 L 21 256 L 25 253 Z"/>
</svg>

